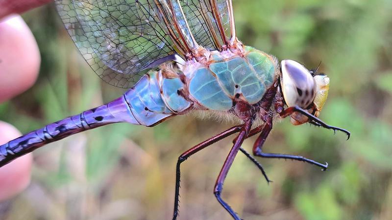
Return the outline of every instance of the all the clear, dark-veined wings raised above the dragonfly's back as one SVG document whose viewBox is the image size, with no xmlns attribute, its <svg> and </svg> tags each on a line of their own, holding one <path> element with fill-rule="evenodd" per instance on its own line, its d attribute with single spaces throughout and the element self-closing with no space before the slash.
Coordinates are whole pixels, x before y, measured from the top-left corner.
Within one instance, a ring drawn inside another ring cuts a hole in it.
<svg viewBox="0 0 392 220">
<path fill-rule="evenodd" d="M 176 53 L 185 57 L 199 45 L 221 50 L 235 38 L 231 0 L 55 2 L 87 63 L 117 87 L 132 87 Z"/>
</svg>

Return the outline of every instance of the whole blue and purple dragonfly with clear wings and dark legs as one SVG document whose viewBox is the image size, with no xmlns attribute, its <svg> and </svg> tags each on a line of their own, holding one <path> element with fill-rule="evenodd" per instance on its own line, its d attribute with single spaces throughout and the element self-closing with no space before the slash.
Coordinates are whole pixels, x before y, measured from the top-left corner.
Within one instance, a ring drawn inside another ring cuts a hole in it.
<svg viewBox="0 0 392 220">
<path fill-rule="evenodd" d="M 178 216 L 180 165 L 193 154 L 237 134 L 217 178 L 221 198 L 225 177 L 238 152 L 270 182 L 253 157 L 304 161 L 326 170 L 328 163 L 290 154 L 264 153 L 274 119 L 290 117 L 340 131 L 319 119 L 329 78 L 294 60 L 244 45 L 236 35 L 232 0 L 55 0 L 57 11 L 88 65 L 107 83 L 129 88 L 121 97 L 83 111 L 0 146 L 0 166 L 48 143 L 100 126 L 127 122 L 155 126 L 191 111 L 234 118 L 238 125 L 197 144 L 178 157 L 173 220 Z M 252 153 L 241 146 L 258 134 Z"/>
</svg>

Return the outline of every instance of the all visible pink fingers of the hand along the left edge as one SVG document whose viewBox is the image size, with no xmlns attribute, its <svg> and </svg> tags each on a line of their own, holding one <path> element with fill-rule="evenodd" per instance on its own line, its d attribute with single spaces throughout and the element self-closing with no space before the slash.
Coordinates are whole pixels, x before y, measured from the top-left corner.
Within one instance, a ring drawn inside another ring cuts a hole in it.
<svg viewBox="0 0 392 220">
<path fill-rule="evenodd" d="M 30 88 L 41 62 L 37 43 L 23 13 L 51 0 L 0 0 L 0 103 Z M 21 133 L 0 121 L 0 145 Z M 0 201 L 12 198 L 30 182 L 32 156 L 27 154 L 0 168 Z"/>
</svg>

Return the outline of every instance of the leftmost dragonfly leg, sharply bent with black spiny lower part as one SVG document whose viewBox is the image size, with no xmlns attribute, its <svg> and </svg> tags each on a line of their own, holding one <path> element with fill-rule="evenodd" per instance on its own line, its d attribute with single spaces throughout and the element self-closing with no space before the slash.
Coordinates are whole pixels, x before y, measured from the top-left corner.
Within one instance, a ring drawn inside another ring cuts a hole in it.
<svg viewBox="0 0 392 220">
<path fill-rule="evenodd" d="M 197 152 L 203 150 L 204 148 L 210 146 L 211 144 L 214 144 L 217 141 L 220 141 L 234 133 L 240 132 L 243 126 L 238 125 L 234 126 L 224 132 L 221 132 L 213 137 L 211 137 L 208 140 L 205 140 L 201 142 L 200 144 L 197 144 L 195 147 L 189 149 L 188 151 L 184 152 L 178 157 L 177 160 L 177 166 L 176 166 L 176 172 L 175 172 L 175 194 L 174 194 L 174 212 L 173 212 L 173 220 L 177 219 L 178 216 L 178 201 L 179 201 L 179 192 L 180 192 L 180 177 L 181 177 L 181 172 L 180 172 L 180 164 L 187 160 L 190 156 L 193 154 L 196 154 Z"/>
</svg>

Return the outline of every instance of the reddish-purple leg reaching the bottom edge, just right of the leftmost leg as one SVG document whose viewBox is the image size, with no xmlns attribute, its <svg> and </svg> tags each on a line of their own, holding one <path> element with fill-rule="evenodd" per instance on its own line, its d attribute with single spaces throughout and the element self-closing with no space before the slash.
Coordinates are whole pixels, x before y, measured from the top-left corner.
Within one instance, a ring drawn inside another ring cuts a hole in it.
<svg viewBox="0 0 392 220">
<path fill-rule="evenodd" d="M 221 169 L 221 172 L 219 173 L 217 182 L 215 183 L 215 187 L 214 187 L 215 197 L 218 199 L 219 203 L 221 203 L 223 208 L 225 208 L 235 220 L 241 220 L 241 219 L 237 215 L 237 213 L 235 213 L 233 209 L 221 198 L 221 193 L 223 190 L 224 179 L 226 178 L 227 173 L 229 172 L 230 167 L 233 164 L 234 158 L 237 155 L 238 151 L 240 150 L 242 143 L 246 139 L 246 136 L 251 126 L 252 126 L 252 121 L 245 122 L 245 125 L 241 129 L 241 132 L 238 134 L 236 142 L 234 143 L 233 147 L 230 150 L 230 153 L 227 155 L 226 160 L 224 161 L 223 167 Z"/>
</svg>

